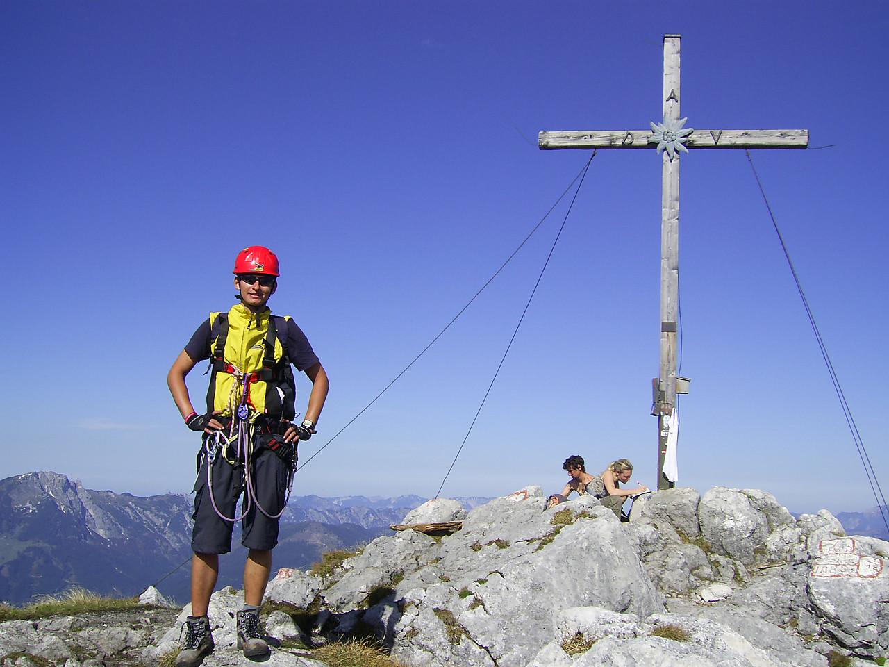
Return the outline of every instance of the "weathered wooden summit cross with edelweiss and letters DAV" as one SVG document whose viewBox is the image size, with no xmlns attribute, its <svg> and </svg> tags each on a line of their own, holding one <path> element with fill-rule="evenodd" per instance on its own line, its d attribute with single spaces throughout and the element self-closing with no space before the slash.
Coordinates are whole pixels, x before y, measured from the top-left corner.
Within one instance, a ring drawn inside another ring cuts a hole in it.
<svg viewBox="0 0 889 667">
<path fill-rule="evenodd" d="M 652 149 L 662 155 L 661 374 L 653 380 L 658 417 L 658 489 L 675 486 L 664 474 L 667 442 L 676 438 L 677 316 L 679 311 L 679 153 L 687 149 L 805 149 L 808 130 L 692 130 L 679 117 L 679 36 L 664 36 L 663 121 L 651 130 L 541 132 L 541 150 Z M 687 390 L 680 393 L 687 393 Z M 672 422 L 673 430 L 670 432 Z"/>
</svg>

